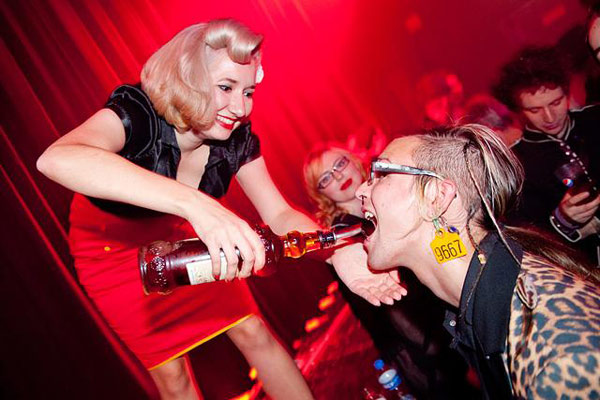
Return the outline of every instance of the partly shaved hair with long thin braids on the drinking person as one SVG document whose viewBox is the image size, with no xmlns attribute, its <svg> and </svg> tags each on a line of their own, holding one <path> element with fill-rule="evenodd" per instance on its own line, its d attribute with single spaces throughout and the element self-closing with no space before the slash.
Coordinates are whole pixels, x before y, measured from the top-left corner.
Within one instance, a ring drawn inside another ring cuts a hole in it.
<svg viewBox="0 0 600 400">
<path fill-rule="evenodd" d="M 472 220 L 485 231 L 496 230 L 511 254 L 506 237 L 518 242 L 530 254 L 600 283 L 600 269 L 586 265 L 572 249 L 547 234 L 499 225 L 498 220 L 517 205 L 524 171 L 514 153 L 490 128 L 468 124 L 418 137 L 421 144 L 412 155 L 416 166 L 434 171 L 456 184 L 468 213 L 467 224 Z M 431 178 L 419 176 L 417 179 L 418 194 L 423 200 L 425 185 Z M 424 201 L 420 203 L 423 212 Z M 512 256 L 516 260 L 514 254 Z"/>
</svg>

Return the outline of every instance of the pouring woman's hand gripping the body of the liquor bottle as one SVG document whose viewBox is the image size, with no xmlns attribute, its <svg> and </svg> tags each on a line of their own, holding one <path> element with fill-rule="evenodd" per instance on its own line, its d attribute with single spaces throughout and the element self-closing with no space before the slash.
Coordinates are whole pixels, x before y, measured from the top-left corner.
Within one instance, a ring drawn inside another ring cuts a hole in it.
<svg viewBox="0 0 600 400">
<path fill-rule="evenodd" d="M 197 201 L 187 207 L 185 218 L 206 244 L 216 279 L 247 278 L 265 265 L 265 246 L 248 223 L 223 207 L 216 200 L 198 193 Z M 238 270 L 239 257 L 242 259 Z M 227 263 L 221 275 L 221 251 Z"/>
</svg>

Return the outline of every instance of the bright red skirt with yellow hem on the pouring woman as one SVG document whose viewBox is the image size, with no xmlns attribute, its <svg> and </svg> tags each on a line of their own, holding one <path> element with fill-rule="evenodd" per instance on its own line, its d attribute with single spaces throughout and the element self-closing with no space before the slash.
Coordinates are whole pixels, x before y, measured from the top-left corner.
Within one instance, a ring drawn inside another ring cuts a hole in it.
<svg viewBox="0 0 600 400">
<path fill-rule="evenodd" d="M 75 194 L 69 240 L 79 281 L 111 328 L 147 368 L 155 368 L 257 312 L 244 281 L 178 288 L 145 295 L 137 262 L 140 246 L 194 237 L 171 215 L 126 218 Z"/>
</svg>

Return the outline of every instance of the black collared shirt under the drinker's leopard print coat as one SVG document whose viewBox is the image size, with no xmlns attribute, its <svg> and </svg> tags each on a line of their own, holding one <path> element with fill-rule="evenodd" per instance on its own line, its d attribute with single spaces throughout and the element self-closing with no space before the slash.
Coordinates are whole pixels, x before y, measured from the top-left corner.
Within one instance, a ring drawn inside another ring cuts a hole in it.
<svg viewBox="0 0 600 400">
<path fill-rule="evenodd" d="M 510 245 L 520 260 L 520 246 L 515 242 Z M 444 327 L 453 337 L 451 347 L 477 371 L 484 397 L 507 399 L 512 396 L 512 388 L 504 361 L 506 338 L 510 302 L 521 267 L 497 233 L 488 234 L 480 249 L 487 261 L 482 265 L 477 257 L 479 253 L 473 255 L 463 284 L 460 308 L 446 313 Z"/>
</svg>

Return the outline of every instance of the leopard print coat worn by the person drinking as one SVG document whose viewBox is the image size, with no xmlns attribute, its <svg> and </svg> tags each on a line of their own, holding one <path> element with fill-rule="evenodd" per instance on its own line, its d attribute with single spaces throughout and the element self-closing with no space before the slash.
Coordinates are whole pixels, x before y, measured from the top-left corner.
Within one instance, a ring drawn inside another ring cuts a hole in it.
<svg viewBox="0 0 600 400">
<path fill-rule="evenodd" d="M 507 344 L 515 396 L 600 399 L 600 288 L 525 254 Z"/>
</svg>

